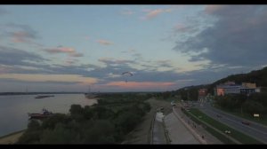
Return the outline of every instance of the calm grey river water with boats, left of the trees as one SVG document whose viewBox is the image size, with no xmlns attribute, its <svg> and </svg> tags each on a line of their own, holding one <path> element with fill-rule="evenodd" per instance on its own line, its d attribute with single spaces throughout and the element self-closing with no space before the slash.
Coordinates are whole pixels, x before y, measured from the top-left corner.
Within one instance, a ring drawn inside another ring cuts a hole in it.
<svg viewBox="0 0 267 149">
<path fill-rule="evenodd" d="M 53 113 L 68 114 L 72 104 L 92 106 L 95 99 L 84 94 L 55 94 L 51 98 L 35 98 L 36 95 L 0 96 L 0 137 L 26 129 L 28 113 L 40 113 L 43 108 Z"/>
</svg>

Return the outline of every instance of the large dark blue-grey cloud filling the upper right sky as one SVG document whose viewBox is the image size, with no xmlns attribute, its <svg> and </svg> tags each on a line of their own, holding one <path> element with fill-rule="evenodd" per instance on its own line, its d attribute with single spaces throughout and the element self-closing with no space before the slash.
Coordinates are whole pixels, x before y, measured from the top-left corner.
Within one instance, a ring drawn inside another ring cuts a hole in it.
<svg viewBox="0 0 267 149">
<path fill-rule="evenodd" d="M 267 7 L 263 5 L 208 5 L 206 17 L 211 26 L 185 41 L 178 40 L 175 51 L 192 55 L 191 61 L 210 60 L 211 64 L 261 66 L 267 64 Z M 212 21 L 211 21 L 212 22 Z"/>
</svg>

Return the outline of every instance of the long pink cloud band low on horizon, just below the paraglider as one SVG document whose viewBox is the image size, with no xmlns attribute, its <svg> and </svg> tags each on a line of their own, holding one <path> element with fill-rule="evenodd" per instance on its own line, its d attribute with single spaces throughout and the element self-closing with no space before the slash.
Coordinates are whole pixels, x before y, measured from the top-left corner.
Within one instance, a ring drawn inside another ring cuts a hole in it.
<svg viewBox="0 0 267 149">
<path fill-rule="evenodd" d="M 146 89 L 146 88 L 159 88 L 175 85 L 174 82 L 109 82 L 106 86 L 117 86 L 120 88 L 130 89 Z"/>
</svg>

